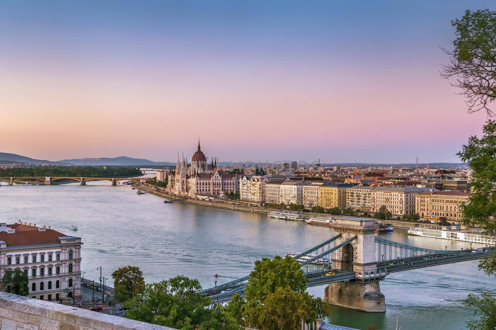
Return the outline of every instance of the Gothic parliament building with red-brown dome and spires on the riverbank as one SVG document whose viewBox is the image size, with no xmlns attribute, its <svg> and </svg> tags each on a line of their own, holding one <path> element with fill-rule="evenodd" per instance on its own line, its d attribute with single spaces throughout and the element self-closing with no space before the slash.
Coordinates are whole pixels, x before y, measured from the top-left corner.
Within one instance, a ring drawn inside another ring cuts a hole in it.
<svg viewBox="0 0 496 330">
<path fill-rule="evenodd" d="M 187 158 L 176 163 L 176 170 L 169 175 L 167 191 L 177 195 L 222 195 L 227 192 L 236 192 L 239 187 L 239 179 L 244 175 L 240 169 L 224 170 L 217 168 L 217 160 L 208 164 L 207 157 L 198 149 L 191 157 L 188 164 Z"/>
</svg>

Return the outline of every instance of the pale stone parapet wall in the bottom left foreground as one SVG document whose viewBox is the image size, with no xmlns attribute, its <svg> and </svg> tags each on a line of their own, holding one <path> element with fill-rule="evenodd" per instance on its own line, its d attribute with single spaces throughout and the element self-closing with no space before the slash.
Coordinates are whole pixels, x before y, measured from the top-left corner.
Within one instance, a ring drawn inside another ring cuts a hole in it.
<svg viewBox="0 0 496 330">
<path fill-rule="evenodd" d="M 118 316 L 0 292 L 1 330 L 173 330 Z"/>
</svg>

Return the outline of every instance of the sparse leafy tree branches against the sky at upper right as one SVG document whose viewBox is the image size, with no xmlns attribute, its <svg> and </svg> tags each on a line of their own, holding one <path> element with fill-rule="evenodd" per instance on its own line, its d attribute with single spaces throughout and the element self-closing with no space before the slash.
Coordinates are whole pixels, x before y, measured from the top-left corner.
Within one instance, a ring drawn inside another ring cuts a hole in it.
<svg viewBox="0 0 496 330">
<path fill-rule="evenodd" d="M 453 51 L 442 48 L 451 55 L 451 62 L 441 76 L 455 78 L 451 84 L 467 98 L 469 113 L 484 110 L 494 116 L 489 103 L 496 97 L 496 11 L 467 10 L 451 25 L 457 38 Z"/>
</svg>

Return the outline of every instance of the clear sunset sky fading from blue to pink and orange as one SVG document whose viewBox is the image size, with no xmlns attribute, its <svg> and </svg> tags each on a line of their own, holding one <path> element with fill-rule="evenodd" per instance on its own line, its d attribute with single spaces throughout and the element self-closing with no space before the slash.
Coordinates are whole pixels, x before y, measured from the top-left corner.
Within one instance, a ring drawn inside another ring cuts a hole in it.
<svg viewBox="0 0 496 330">
<path fill-rule="evenodd" d="M 457 162 L 485 113 L 439 76 L 494 1 L 0 2 L 0 152 Z"/>
</svg>

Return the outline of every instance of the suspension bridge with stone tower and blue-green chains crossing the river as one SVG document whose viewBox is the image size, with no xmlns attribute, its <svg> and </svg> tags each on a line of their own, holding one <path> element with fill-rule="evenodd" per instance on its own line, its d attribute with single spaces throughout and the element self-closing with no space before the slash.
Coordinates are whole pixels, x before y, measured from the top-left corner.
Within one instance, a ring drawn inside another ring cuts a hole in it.
<svg viewBox="0 0 496 330">
<path fill-rule="evenodd" d="M 485 251 L 435 250 L 375 236 L 377 226 L 369 218 L 336 218 L 332 238 L 293 256 L 300 262 L 307 286 L 327 284 L 327 302 L 367 312 L 384 312 L 385 297 L 379 281 L 388 274 L 492 256 L 496 247 Z M 215 302 L 229 301 L 235 293 L 244 295 L 249 275 L 200 292 Z"/>
</svg>

